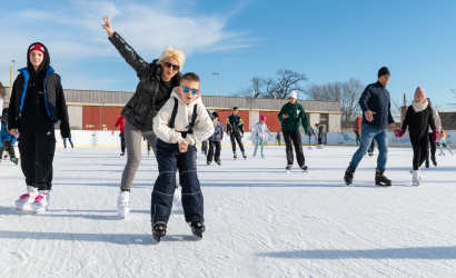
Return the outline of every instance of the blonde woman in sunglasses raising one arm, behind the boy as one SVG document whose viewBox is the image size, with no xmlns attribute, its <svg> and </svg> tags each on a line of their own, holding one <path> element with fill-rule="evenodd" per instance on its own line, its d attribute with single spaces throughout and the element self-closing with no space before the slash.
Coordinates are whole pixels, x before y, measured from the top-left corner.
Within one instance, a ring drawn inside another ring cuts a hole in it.
<svg viewBox="0 0 456 278">
<path fill-rule="evenodd" d="M 185 56 L 179 49 L 168 47 L 160 59 L 149 63 L 112 30 L 108 17 L 103 17 L 103 20 L 105 24 L 101 27 L 109 36 L 109 41 L 139 78 L 135 95 L 121 111 L 126 119 L 127 165 L 120 183 L 117 211 L 120 218 L 125 218 L 130 210 L 131 183 L 141 161 L 141 137 L 147 139 L 157 157 L 157 136 L 153 132 L 152 119 L 171 96 L 172 88 L 179 86 L 182 78 L 179 70 L 182 69 Z"/>
</svg>

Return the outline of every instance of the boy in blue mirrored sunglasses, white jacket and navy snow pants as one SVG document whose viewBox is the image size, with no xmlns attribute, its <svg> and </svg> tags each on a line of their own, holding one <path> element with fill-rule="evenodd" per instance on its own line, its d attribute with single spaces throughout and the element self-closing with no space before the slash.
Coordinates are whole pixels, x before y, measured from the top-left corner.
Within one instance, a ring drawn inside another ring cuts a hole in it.
<svg viewBox="0 0 456 278">
<path fill-rule="evenodd" d="M 214 123 L 201 101 L 199 77 L 184 75 L 171 98 L 153 119 L 159 175 L 151 201 L 152 234 L 157 241 L 166 235 L 171 214 L 176 171 L 182 187 L 184 215 L 194 235 L 205 231 L 204 199 L 196 169 L 196 143 L 214 135 Z"/>
</svg>

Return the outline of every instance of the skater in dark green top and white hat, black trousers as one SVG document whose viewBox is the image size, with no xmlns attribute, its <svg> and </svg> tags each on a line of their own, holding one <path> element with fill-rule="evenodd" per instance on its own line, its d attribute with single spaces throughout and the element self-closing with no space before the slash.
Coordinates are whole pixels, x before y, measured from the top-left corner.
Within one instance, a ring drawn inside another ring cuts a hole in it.
<svg viewBox="0 0 456 278">
<path fill-rule="evenodd" d="M 281 131 L 284 132 L 284 140 L 287 152 L 287 167 L 286 170 L 291 170 L 294 163 L 293 146 L 295 146 L 296 159 L 299 167 L 307 171 L 308 167 L 305 165 L 305 157 L 303 151 L 301 136 L 299 132 L 299 126 L 301 125 L 306 135 L 309 132 L 309 122 L 307 120 L 306 111 L 304 107 L 297 101 L 298 96 L 295 91 L 288 95 L 288 103 L 285 103 L 278 113 L 279 121 L 281 122 Z"/>
</svg>

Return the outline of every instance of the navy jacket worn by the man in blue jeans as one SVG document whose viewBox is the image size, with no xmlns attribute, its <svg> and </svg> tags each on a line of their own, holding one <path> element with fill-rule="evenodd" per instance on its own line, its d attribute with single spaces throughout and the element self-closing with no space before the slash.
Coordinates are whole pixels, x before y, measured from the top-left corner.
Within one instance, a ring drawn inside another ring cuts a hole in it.
<svg viewBox="0 0 456 278">
<path fill-rule="evenodd" d="M 359 98 L 359 106 L 363 110 L 363 123 L 365 125 L 385 129 L 388 123 L 394 122 L 389 91 L 378 81 L 366 87 Z M 370 122 L 366 120 L 364 115 L 367 110 L 375 112 L 374 120 Z"/>
</svg>

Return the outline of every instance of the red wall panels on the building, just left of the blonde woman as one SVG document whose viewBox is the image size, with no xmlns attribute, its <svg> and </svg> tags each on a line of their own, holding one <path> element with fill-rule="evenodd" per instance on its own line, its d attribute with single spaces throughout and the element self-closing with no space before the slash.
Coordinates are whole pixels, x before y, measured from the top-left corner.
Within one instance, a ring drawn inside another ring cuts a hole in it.
<svg viewBox="0 0 456 278">
<path fill-rule="evenodd" d="M 107 125 L 107 129 L 112 130 L 122 109 L 122 107 L 102 107 L 101 125 Z M 82 107 L 82 130 L 100 130 L 99 106 Z"/>
</svg>

